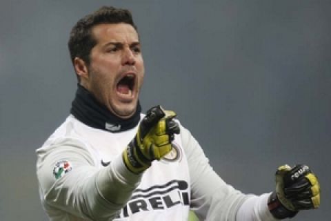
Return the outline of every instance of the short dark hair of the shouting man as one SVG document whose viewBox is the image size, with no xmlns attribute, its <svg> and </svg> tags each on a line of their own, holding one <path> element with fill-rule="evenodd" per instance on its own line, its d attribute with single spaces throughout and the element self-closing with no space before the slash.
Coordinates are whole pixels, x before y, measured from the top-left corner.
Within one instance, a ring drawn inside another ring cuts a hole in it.
<svg viewBox="0 0 331 221">
<path fill-rule="evenodd" d="M 126 9 L 103 6 L 99 10 L 86 15 L 74 25 L 70 32 L 68 47 L 72 64 L 75 57 L 83 59 L 90 65 L 90 52 L 97 44 L 92 36 L 92 28 L 104 23 L 128 23 L 137 31 L 131 12 Z M 78 77 L 78 76 L 77 76 Z"/>
</svg>

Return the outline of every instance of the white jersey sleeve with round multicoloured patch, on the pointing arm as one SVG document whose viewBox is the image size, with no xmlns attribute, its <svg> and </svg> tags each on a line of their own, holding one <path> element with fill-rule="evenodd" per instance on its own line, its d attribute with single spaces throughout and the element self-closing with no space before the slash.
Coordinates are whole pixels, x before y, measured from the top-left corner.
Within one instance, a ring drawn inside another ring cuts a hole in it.
<svg viewBox="0 0 331 221">
<path fill-rule="evenodd" d="M 57 142 L 39 148 L 37 154 L 43 204 L 85 220 L 115 218 L 141 180 L 141 175 L 126 169 L 121 155 L 99 169 L 86 144 L 79 140 Z"/>
</svg>

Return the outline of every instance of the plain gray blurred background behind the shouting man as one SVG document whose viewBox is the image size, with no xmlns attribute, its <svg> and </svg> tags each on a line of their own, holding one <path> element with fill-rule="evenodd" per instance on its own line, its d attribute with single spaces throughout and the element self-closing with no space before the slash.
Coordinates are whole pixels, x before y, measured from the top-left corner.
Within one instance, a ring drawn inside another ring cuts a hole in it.
<svg viewBox="0 0 331 221">
<path fill-rule="evenodd" d="M 274 189 L 281 164 L 308 164 L 330 220 L 331 1 L 0 3 L 0 220 L 47 220 L 35 149 L 77 88 L 67 41 L 100 6 L 132 10 L 146 64 L 143 111 L 173 109 L 210 164 L 244 193 Z"/>
</svg>

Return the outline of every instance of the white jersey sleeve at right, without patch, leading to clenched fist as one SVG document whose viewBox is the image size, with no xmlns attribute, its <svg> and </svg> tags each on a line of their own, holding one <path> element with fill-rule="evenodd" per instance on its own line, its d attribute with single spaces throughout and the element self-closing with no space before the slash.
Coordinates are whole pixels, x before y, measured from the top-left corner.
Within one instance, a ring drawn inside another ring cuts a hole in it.
<svg viewBox="0 0 331 221">
<path fill-rule="evenodd" d="M 257 200 L 262 197 L 241 193 L 215 173 L 201 146 L 186 128 L 181 127 L 181 136 L 190 173 L 190 207 L 200 220 L 274 220 L 266 202 Z"/>
</svg>

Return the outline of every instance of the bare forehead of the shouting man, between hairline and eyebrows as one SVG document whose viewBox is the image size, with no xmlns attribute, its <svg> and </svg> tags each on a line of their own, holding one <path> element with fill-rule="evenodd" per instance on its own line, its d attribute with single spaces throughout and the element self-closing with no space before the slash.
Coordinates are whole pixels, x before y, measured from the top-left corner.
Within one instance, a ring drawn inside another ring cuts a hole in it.
<svg viewBox="0 0 331 221">
<path fill-rule="evenodd" d="M 92 35 L 98 44 L 119 41 L 130 44 L 139 41 L 138 33 L 127 23 L 99 24 L 92 28 Z"/>
</svg>

